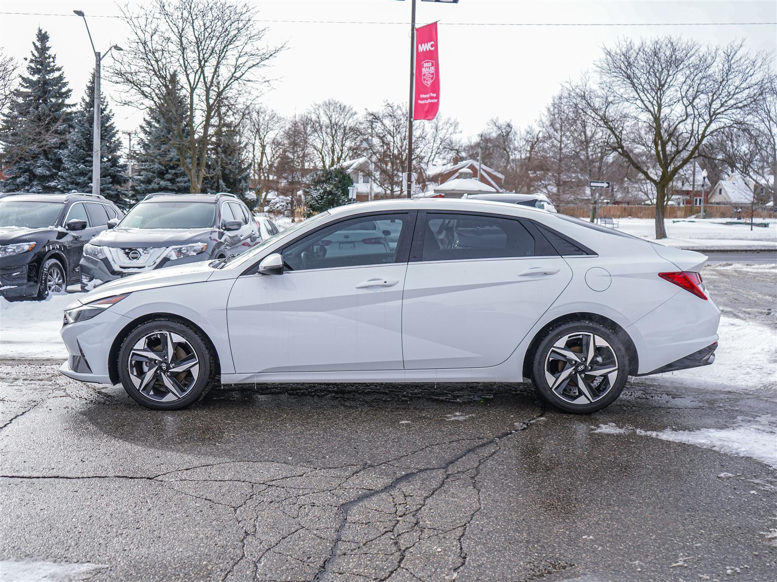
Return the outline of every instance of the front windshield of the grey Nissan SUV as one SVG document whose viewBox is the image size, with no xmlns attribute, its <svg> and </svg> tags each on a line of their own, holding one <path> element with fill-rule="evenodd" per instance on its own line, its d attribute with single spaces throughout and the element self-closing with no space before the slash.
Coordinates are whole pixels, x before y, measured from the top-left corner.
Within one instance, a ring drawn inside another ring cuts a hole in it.
<svg viewBox="0 0 777 582">
<path fill-rule="evenodd" d="M 144 202 L 127 213 L 124 228 L 207 228 L 216 217 L 211 202 Z"/>
</svg>

